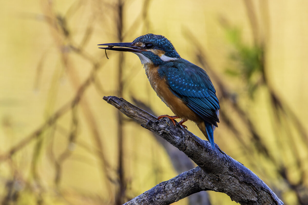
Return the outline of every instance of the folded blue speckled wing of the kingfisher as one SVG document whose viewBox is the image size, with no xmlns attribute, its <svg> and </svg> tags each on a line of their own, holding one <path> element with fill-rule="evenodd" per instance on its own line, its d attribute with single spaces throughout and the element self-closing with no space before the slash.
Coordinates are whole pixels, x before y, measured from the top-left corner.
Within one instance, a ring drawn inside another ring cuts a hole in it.
<svg viewBox="0 0 308 205">
<path fill-rule="evenodd" d="M 179 59 L 161 66 L 158 72 L 165 77 L 170 90 L 190 109 L 217 127 L 219 101 L 216 90 L 203 69 Z"/>
</svg>

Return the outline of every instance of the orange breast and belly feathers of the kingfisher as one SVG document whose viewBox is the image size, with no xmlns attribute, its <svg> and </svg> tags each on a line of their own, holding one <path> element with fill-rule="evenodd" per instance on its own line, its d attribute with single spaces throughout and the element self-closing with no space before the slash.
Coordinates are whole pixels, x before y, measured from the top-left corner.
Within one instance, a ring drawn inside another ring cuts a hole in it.
<svg viewBox="0 0 308 205">
<path fill-rule="evenodd" d="M 201 118 L 196 115 L 180 98 L 176 97 L 164 77 L 160 77 L 158 68 L 154 65 L 145 66 L 149 82 L 157 96 L 172 110 L 174 114 L 182 119 L 200 122 Z"/>
</svg>

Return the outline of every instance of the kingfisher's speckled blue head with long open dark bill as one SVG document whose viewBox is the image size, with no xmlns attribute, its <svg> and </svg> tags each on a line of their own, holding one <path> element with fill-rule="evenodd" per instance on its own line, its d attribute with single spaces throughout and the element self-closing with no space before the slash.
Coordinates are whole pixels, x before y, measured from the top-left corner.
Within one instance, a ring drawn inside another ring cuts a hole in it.
<svg viewBox="0 0 308 205">
<path fill-rule="evenodd" d="M 161 35 L 152 33 L 139 36 L 132 43 L 98 44 L 108 46 L 106 50 L 128 51 L 139 56 L 142 64 L 162 65 L 180 58 L 172 43 Z"/>
</svg>

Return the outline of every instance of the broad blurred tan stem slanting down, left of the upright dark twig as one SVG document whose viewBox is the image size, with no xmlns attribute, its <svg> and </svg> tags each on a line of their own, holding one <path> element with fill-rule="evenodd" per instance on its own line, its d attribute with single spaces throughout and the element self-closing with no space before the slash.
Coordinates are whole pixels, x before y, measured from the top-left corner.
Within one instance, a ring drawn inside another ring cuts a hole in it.
<svg viewBox="0 0 308 205">
<path fill-rule="evenodd" d="M 79 80 L 79 76 L 77 75 L 77 72 L 75 71 L 75 65 L 71 61 L 71 58 L 69 55 L 70 54 L 69 49 L 71 47 L 78 48 L 76 49 L 76 51 L 78 51 L 79 54 L 83 54 L 83 56 L 85 56 L 84 55 L 85 52 L 82 51 L 82 49 L 79 46 L 74 45 L 74 41 L 72 40 L 70 29 L 68 28 L 68 25 L 66 23 L 67 19 L 65 18 L 65 16 L 56 14 L 55 10 L 53 10 L 52 2 L 48 2 L 46 5 L 44 5 L 43 11 L 46 16 L 49 16 L 50 19 L 52 19 L 51 23 L 49 23 L 49 25 L 51 25 L 50 26 L 51 35 L 60 53 L 61 61 L 67 70 L 68 77 L 71 80 L 72 85 L 75 88 L 77 88 L 80 85 L 80 80 Z M 89 32 L 86 31 L 85 36 L 87 35 L 89 35 Z M 68 43 L 70 46 L 67 46 Z M 89 59 L 90 63 L 94 66 L 94 69 L 99 68 L 100 66 L 99 63 L 96 63 L 95 60 L 91 60 L 93 59 L 92 57 L 87 57 L 87 58 Z M 94 77 L 92 76 L 91 81 L 93 79 Z M 101 133 L 99 130 L 99 126 L 96 123 L 95 115 L 91 111 L 89 102 L 87 101 L 87 99 L 82 98 L 80 100 L 80 107 L 81 107 L 81 110 L 83 111 L 83 116 L 86 119 L 86 123 L 92 132 L 91 137 L 92 137 L 93 143 L 97 146 L 99 150 L 99 152 L 97 152 L 96 154 L 100 160 L 100 167 L 101 167 L 101 172 L 102 172 L 101 180 L 102 180 L 102 183 L 105 184 L 106 189 L 109 193 L 109 196 L 111 197 L 111 200 L 112 200 L 113 192 L 109 188 L 111 187 L 111 184 L 109 180 L 106 180 L 109 178 L 107 177 L 108 163 L 107 163 L 107 159 L 104 154 L 103 143 L 101 139 Z"/>
</svg>

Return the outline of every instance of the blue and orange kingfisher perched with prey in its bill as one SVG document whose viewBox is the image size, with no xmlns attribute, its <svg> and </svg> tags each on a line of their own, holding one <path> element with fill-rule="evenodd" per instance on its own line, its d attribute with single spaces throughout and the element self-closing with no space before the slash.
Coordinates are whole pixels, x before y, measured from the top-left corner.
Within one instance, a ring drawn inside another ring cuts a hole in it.
<svg viewBox="0 0 308 205">
<path fill-rule="evenodd" d="M 135 53 L 144 66 L 148 80 L 157 96 L 171 109 L 168 117 L 195 122 L 209 140 L 213 149 L 214 130 L 219 123 L 219 101 L 216 90 L 206 71 L 183 59 L 172 43 L 164 36 L 152 33 L 140 36 L 131 43 L 98 44 L 102 49 Z"/>
</svg>

